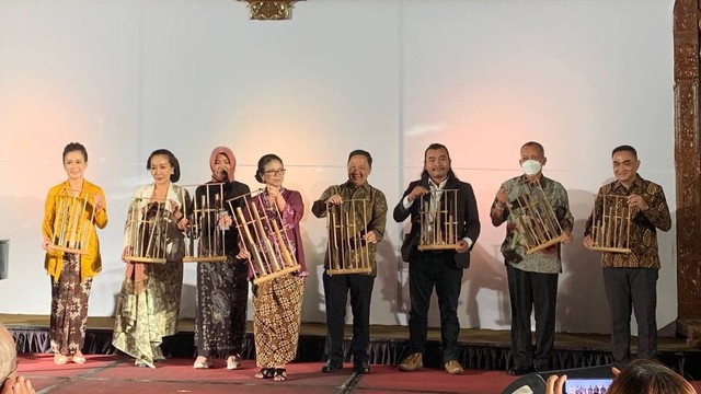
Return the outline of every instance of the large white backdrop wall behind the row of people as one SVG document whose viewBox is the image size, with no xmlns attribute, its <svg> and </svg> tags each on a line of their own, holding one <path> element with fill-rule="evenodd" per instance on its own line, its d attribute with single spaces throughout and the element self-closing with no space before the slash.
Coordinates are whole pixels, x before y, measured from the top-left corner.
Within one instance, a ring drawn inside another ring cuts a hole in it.
<svg viewBox="0 0 701 394">
<path fill-rule="evenodd" d="M 284 159 L 286 186 L 308 207 L 302 317 L 323 322 L 325 230 L 309 207 L 344 182 L 347 153 L 361 148 L 391 206 L 371 321 L 405 324 L 404 225 L 391 208 L 437 141 L 473 185 L 482 221 L 461 325 L 508 328 L 505 230 L 491 225 L 489 206 L 519 173 L 519 147 L 537 140 L 576 219 L 558 329 L 608 333 L 599 256 L 581 246 L 582 232 L 622 143 L 637 148 L 641 174 L 663 185 L 674 218 L 671 9 L 673 0 L 312 0 L 297 3 L 292 21 L 265 23 L 232 0 L 0 0 L 0 239 L 10 239 L 0 313 L 49 312 L 41 221 L 48 188 L 66 177 L 66 143 L 88 147 L 87 177 L 107 195 L 104 269 L 90 299 L 99 316 L 115 308 L 128 198 L 150 182 L 148 154 L 172 150 L 181 184 L 193 184 L 209 178 L 209 152 L 226 144 L 252 188 L 261 155 Z M 674 228 L 659 241 L 662 327 L 677 310 Z M 195 266 L 185 269 L 182 315 L 193 316 Z"/>
</svg>

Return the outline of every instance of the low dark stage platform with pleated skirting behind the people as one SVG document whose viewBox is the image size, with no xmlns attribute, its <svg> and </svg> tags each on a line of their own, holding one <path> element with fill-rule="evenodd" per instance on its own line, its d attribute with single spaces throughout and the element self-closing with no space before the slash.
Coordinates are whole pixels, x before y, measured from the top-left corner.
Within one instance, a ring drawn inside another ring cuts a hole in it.
<svg viewBox="0 0 701 394">
<path fill-rule="evenodd" d="M 0 314 L 0 322 L 14 334 L 18 349 L 23 354 L 44 354 L 49 351 L 48 316 Z M 162 348 L 170 357 L 194 359 L 193 321 L 182 320 L 180 333 L 165 338 Z M 83 352 L 87 355 L 115 355 L 112 347 L 111 317 L 89 317 L 88 333 Z M 349 345 L 350 327 L 346 327 L 346 348 Z M 252 329 L 244 344 L 243 358 L 253 360 Z M 405 326 L 375 325 L 371 327 L 370 362 L 376 366 L 393 367 L 405 356 L 404 348 L 409 338 Z M 325 325 L 302 323 L 297 362 L 322 362 L 324 354 Z M 483 371 L 505 371 L 512 364 L 509 358 L 509 332 L 494 329 L 462 329 L 460 332 L 460 361 L 466 369 Z M 633 341 L 634 345 L 634 341 Z M 701 380 L 701 350 L 690 346 L 685 339 L 660 337 L 659 359 L 689 379 Z M 553 370 L 587 368 L 610 363 L 610 344 L 608 335 L 559 333 L 555 349 L 551 357 Z M 635 348 L 633 347 L 633 352 Z M 346 361 L 350 361 L 348 358 Z M 440 368 L 440 332 L 432 328 L 424 352 L 427 368 Z"/>
</svg>

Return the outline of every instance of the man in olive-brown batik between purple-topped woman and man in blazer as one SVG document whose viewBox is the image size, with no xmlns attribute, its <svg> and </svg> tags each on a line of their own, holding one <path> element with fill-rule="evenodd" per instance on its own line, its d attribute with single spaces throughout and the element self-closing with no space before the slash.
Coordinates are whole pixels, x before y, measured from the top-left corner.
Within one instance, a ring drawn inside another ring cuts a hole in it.
<svg viewBox="0 0 701 394">
<path fill-rule="evenodd" d="M 329 256 L 324 262 L 324 296 L 326 298 L 326 363 L 322 372 L 334 372 L 343 368 L 343 331 L 346 317 L 346 300 L 350 293 L 353 311 L 353 352 L 354 370 L 357 373 L 370 373 L 367 352 L 370 341 L 370 298 L 377 276 L 375 253 L 377 243 L 384 236 L 387 221 L 387 199 L 379 189 L 370 186 L 368 176 L 372 171 L 372 157 L 364 150 L 354 150 L 348 154 L 348 181 L 342 185 L 330 186 L 311 208 L 317 218 L 325 218 L 329 206 L 341 205 L 344 200 L 365 200 L 356 204 L 355 209 L 366 211 L 355 218 L 355 225 L 364 230 L 363 242 L 368 244 L 370 274 L 329 275 Z M 364 220 L 367 219 L 367 222 Z M 330 242 L 332 240 L 329 240 Z M 344 262 L 348 264 L 349 262 Z"/>
</svg>

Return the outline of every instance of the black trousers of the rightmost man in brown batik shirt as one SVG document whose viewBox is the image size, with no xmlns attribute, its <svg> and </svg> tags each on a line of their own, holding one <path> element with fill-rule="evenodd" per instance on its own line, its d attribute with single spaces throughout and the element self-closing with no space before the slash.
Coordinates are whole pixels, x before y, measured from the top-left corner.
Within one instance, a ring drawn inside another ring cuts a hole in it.
<svg viewBox="0 0 701 394">
<path fill-rule="evenodd" d="M 637 357 L 657 355 L 657 278 L 655 268 L 604 268 L 604 287 L 611 313 L 613 361 L 631 359 L 631 306 L 637 322 Z"/>
</svg>

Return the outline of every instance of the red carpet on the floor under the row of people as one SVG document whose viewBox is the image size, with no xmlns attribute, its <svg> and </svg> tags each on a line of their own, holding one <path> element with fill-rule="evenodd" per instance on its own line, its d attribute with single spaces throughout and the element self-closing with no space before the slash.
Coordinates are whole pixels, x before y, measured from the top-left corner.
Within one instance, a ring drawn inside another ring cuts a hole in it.
<svg viewBox="0 0 701 394">
<path fill-rule="evenodd" d="M 209 370 L 194 370 L 193 359 L 169 359 L 158 368 L 136 368 L 130 359 L 88 356 L 82 366 L 54 364 L 53 355 L 23 355 L 19 373 L 43 393 L 467 393 L 499 394 L 516 378 L 504 371 L 467 371 L 452 376 L 443 370 L 424 368 L 399 372 L 388 366 L 372 366 L 372 373 L 356 375 L 352 364 L 335 373 L 321 373 L 322 363 L 291 363 L 287 382 L 255 379 L 255 361 L 243 360 L 243 369 L 227 370 L 216 360 Z M 692 383 L 701 392 L 701 382 Z"/>
</svg>

